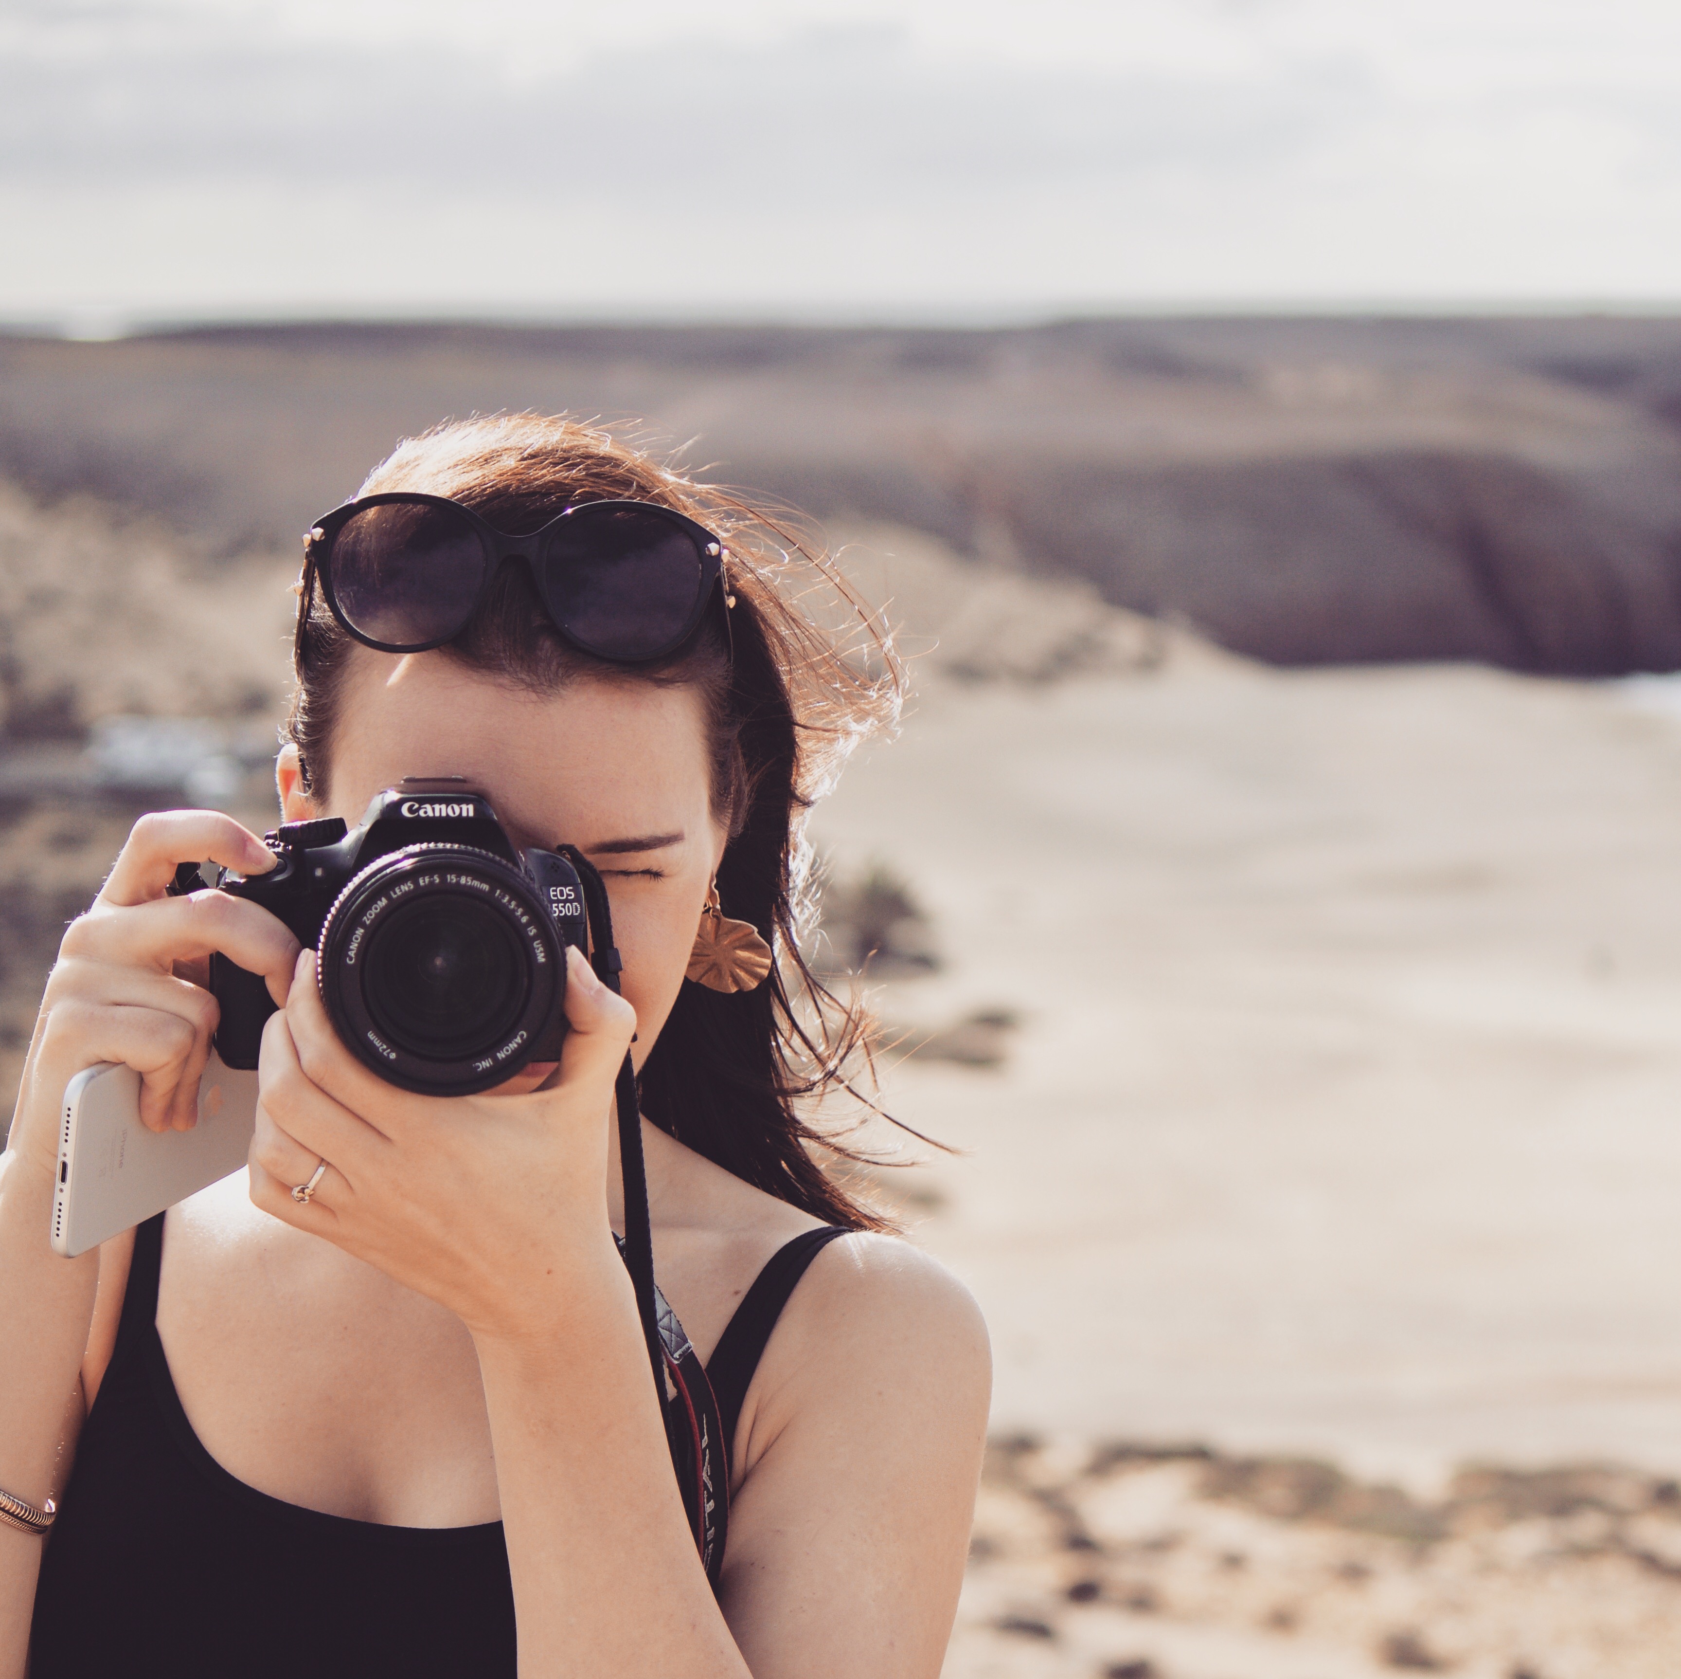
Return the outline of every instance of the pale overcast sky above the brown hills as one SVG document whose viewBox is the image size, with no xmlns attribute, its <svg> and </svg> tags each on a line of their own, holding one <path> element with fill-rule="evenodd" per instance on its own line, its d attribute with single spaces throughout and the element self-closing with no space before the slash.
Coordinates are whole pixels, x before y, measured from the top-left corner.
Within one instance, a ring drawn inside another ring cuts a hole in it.
<svg viewBox="0 0 1681 1679">
<path fill-rule="evenodd" d="M 0 316 L 1681 303 L 1681 0 L 0 0 Z"/>
</svg>

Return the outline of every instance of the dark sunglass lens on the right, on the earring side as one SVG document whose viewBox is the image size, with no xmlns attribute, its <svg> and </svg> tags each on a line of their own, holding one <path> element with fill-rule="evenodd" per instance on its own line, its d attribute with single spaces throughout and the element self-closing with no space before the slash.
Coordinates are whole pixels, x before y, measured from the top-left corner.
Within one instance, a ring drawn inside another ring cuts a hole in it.
<svg viewBox="0 0 1681 1679">
<path fill-rule="evenodd" d="M 588 508 L 551 538 L 543 587 L 555 622 L 607 659 L 669 653 L 693 628 L 706 570 L 694 537 L 644 508 Z"/>
</svg>

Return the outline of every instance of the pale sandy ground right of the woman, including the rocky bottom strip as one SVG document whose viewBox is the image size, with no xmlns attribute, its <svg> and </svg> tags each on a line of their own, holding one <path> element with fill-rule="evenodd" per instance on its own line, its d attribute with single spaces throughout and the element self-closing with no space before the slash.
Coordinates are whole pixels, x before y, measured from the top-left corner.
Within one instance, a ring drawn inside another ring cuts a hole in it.
<svg viewBox="0 0 1681 1679">
<path fill-rule="evenodd" d="M 1182 643 L 925 688 L 817 833 L 930 912 L 889 1020 L 1019 1020 L 888 1085 L 997 1358 L 948 1679 L 1681 1671 L 1681 722 Z"/>
</svg>

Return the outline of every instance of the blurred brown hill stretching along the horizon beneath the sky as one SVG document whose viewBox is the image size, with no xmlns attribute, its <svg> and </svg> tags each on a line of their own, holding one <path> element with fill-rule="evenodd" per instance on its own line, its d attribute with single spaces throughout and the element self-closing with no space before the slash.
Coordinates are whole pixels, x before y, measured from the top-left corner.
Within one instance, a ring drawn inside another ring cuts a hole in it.
<svg viewBox="0 0 1681 1679">
<path fill-rule="evenodd" d="M 0 338 L 0 474 L 289 553 L 398 436 L 637 416 L 709 476 L 1274 663 L 1681 666 L 1681 320 L 309 325 Z"/>
</svg>

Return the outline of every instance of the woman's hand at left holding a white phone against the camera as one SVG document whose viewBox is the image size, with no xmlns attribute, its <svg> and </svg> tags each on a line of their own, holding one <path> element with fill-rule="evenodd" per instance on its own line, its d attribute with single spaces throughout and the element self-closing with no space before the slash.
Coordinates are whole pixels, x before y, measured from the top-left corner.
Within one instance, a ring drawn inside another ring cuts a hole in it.
<svg viewBox="0 0 1681 1679">
<path fill-rule="evenodd" d="M 92 907 L 66 929 L 10 1137 L 20 1159 L 49 1178 L 64 1087 L 97 1062 L 123 1062 L 141 1075 L 140 1117 L 153 1131 L 197 1122 L 198 1075 L 217 1026 L 217 1003 L 203 986 L 212 951 L 262 974 L 274 1001 L 286 1001 L 299 945 L 281 920 L 224 892 L 166 897 L 182 863 L 207 858 L 242 875 L 274 866 L 274 853 L 230 816 L 143 816 Z"/>
</svg>

